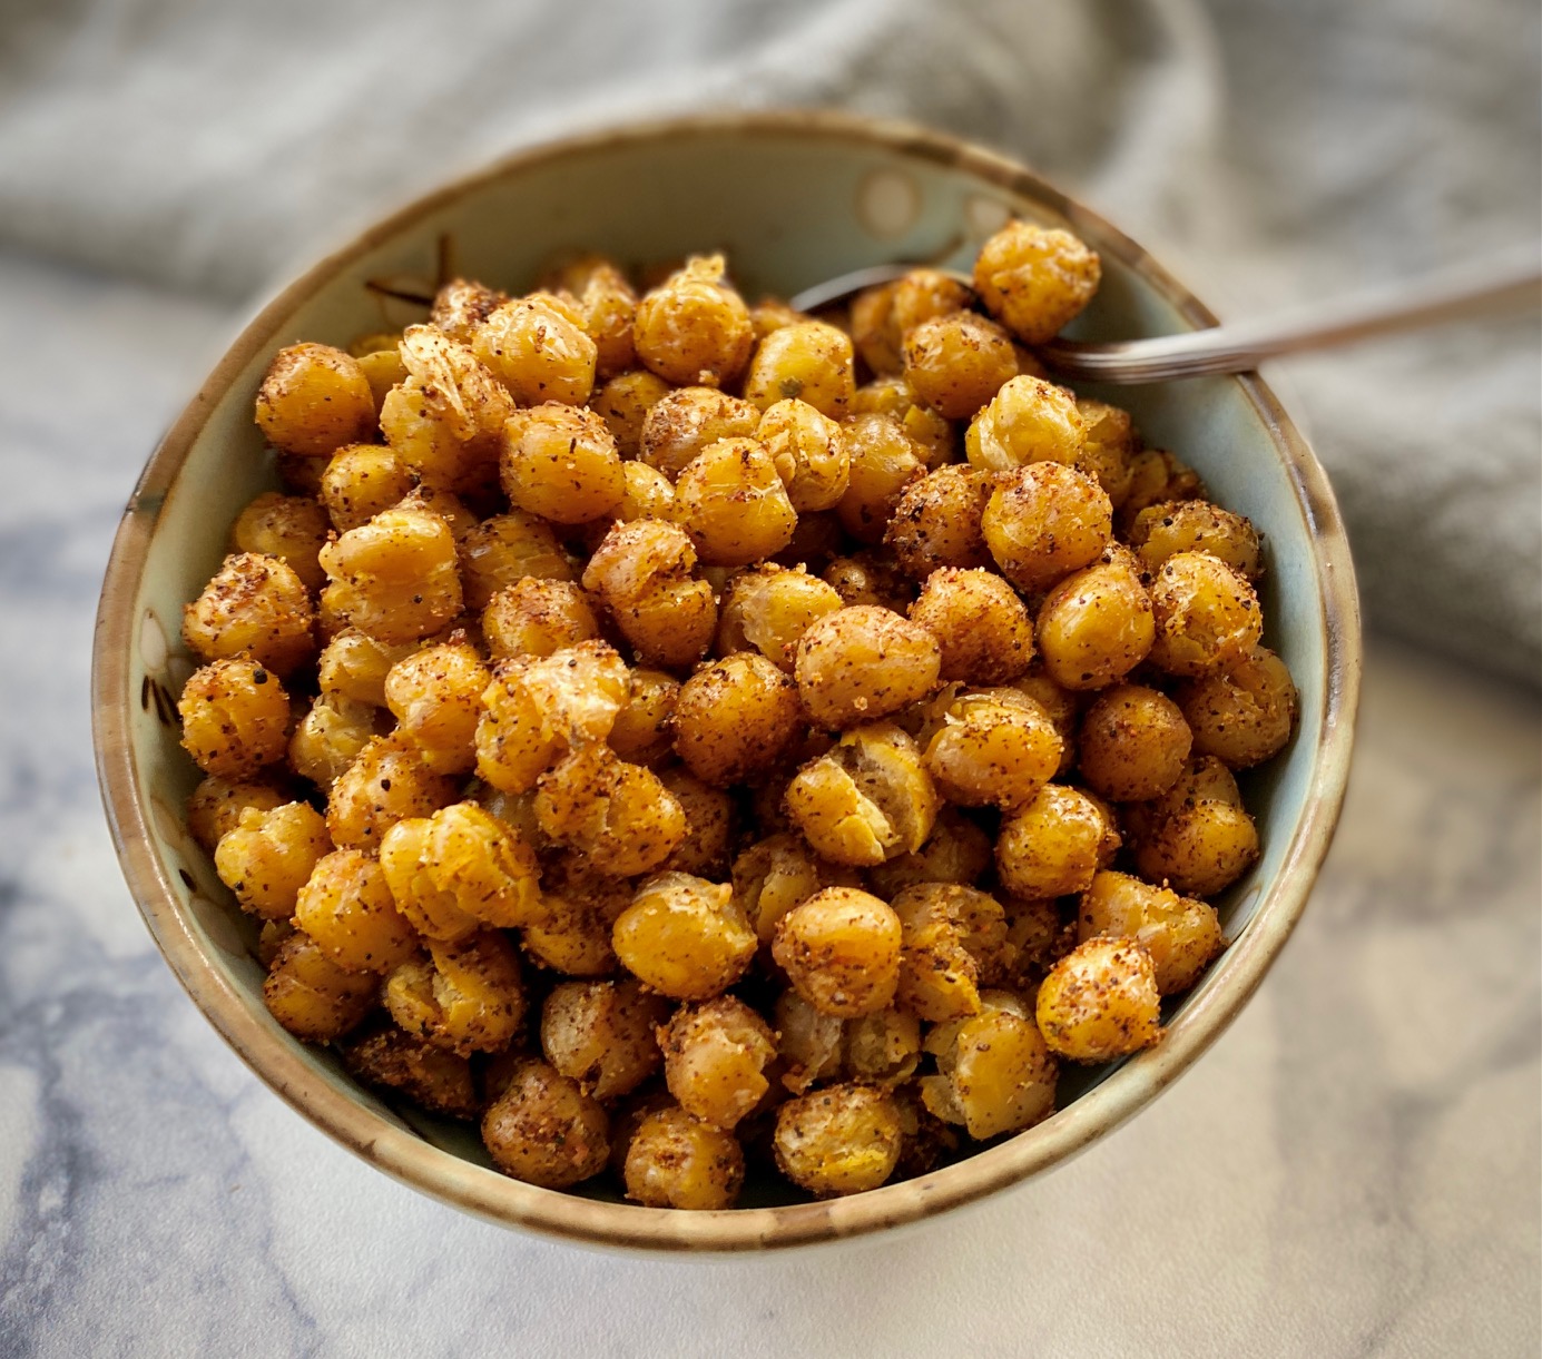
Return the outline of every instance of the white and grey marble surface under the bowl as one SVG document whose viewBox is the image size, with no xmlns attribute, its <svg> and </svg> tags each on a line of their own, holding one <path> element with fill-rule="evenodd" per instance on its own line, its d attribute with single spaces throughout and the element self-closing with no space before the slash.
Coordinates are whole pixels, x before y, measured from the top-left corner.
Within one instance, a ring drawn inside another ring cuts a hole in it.
<svg viewBox="0 0 1542 1359">
<path fill-rule="evenodd" d="M 108 544 L 233 317 L 0 256 L 0 1354 L 1534 1354 L 1542 704 L 1374 643 L 1305 921 L 1195 1071 L 893 1240 L 606 1256 L 384 1179 L 154 952 L 91 767 Z"/>
</svg>

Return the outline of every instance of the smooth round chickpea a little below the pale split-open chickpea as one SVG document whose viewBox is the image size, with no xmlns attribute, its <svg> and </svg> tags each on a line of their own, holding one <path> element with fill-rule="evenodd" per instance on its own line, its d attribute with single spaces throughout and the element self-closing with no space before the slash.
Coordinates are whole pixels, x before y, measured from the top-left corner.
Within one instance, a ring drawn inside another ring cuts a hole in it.
<svg viewBox="0 0 1542 1359">
<path fill-rule="evenodd" d="M 823 1014 L 873 1014 L 894 1000 L 899 917 L 870 892 L 825 888 L 777 921 L 771 955 Z"/>
</svg>

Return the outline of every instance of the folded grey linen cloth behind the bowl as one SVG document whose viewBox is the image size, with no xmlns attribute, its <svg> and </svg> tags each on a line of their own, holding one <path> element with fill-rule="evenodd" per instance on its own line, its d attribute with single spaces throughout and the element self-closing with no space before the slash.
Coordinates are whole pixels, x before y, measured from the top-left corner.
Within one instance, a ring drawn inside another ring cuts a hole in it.
<svg viewBox="0 0 1542 1359">
<path fill-rule="evenodd" d="M 1019 156 L 1223 316 L 1542 236 L 1534 0 L 0 0 L 0 239 L 242 297 L 574 126 L 834 105 Z M 1292 361 L 1366 613 L 1542 683 L 1534 319 Z"/>
</svg>

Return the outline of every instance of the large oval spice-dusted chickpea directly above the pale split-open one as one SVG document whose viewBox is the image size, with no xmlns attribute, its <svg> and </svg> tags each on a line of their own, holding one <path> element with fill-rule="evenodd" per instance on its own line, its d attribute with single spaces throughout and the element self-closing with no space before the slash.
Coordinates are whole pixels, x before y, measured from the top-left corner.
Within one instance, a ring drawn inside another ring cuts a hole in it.
<svg viewBox="0 0 1542 1359">
<path fill-rule="evenodd" d="M 924 698 L 936 687 L 941 655 L 919 622 L 859 604 L 827 613 L 803 633 L 794 675 L 808 715 L 839 730 Z"/>
</svg>

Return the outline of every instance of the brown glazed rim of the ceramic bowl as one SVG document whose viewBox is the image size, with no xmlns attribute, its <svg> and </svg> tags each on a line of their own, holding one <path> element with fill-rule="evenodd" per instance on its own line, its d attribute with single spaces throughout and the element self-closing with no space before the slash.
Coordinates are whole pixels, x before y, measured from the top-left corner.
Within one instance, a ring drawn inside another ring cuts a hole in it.
<svg viewBox="0 0 1542 1359">
<path fill-rule="evenodd" d="M 1103 253 L 1143 276 L 1194 327 L 1215 316 L 1123 231 L 995 151 L 910 123 L 834 111 L 709 112 L 629 122 L 517 151 L 461 176 L 376 220 L 282 288 L 242 328 L 199 391 L 151 453 L 123 510 L 102 584 L 93 646 L 93 735 L 103 806 L 130 892 L 151 937 L 193 1003 L 247 1066 L 290 1106 L 348 1151 L 393 1179 L 483 1219 L 591 1245 L 665 1251 L 742 1251 L 803 1245 L 913 1222 L 1019 1183 L 1076 1154 L 1172 1085 L 1237 1017 L 1300 920 L 1332 841 L 1349 775 L 1360 687 L 1360 610 L 1348 538 L 1326 473 L 1280 401 L 1257 373 L 1237 376 L 1292 481 L 1315 545 L 1321 592 L 1325 692 L 1311 794 L 1281 871 L 1231 943 L 1206 986 L 1164 1040 L 1124 1062 L 1052 1119 L 996 1146 L 913 1180 L 848 1199 L 776 1208 L 680 1213 L 541 1190 L 441 1151 L 319 1079 L 298 1043 L 276 1042 L 247 995 L 210 965 L 183 918 L 167 866 L 153 851 L 150 809 L 139 797 L 130 743 L 131 615 L 156 518 L 204 421 L 251 356 L 298 304 L 418 219 L 506 176 L 574 154 L 618 146 L 719 139 L 805 136 L 857 142 L 933 160 L 985 183 L 1038 199 L 1087 228 Z"/>
</svg>

